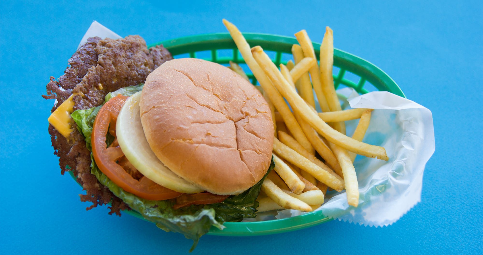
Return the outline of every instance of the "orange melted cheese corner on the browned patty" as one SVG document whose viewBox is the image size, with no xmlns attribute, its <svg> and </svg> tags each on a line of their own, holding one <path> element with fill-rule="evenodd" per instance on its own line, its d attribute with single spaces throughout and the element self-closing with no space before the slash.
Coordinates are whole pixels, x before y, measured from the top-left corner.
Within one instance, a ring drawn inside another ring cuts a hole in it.
<svg viewBox="0 0 483 255">
<path fill-rule="evenodd" d="M 54 126 L 57 131 L 64 137 L 69 137 L 71 135 L 72 129 L 72 118 L 71 113 L 74 107 L 74 101 L 72 100 L 73 94 L 67 98 L 57 109 L 50 115 L 47 119 L 52 126 Z"/>
</svg>

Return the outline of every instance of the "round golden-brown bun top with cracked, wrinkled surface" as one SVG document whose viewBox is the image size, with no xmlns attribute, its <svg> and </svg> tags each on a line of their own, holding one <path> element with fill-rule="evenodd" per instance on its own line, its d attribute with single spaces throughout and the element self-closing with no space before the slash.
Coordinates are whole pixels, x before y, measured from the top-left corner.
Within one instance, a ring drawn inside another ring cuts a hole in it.
<svg viewBox="0 0 483 255">
<path fill-rule="evenodd" d="M 270 108 L 225 66 L 191 58 L 165 62 L 146 78 L 140 113 L 159 160 L 208 192 L 239 194 L 270 166 Z"/>
</svg>

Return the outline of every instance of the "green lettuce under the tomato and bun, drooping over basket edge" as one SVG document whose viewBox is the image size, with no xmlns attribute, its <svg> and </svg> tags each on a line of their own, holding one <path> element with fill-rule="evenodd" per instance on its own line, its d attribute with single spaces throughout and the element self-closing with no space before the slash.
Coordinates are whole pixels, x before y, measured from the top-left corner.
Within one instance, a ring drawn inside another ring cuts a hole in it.
<svg viewBox="0 0 483 255">
<path fill-rule="evenodd" d="M 130 86 L 109 93 L 105 97 L 105 102 L 118 94 L 130 96 L 137 91 L 142 90 L 142 86 L 143 85 Z M 85 136 L 85 143 L 89 150 L 92 150 L 92 126 L 100 107 L 101 106 L 85 110 L 76 110 L 71 115 L 72 119 L 77 123 L 79 132 Z M 222 224 L 224 222 L 241 221 L 243 218 L 256 217 L 256 208 L 258 207 L 256 198 L 260 194 L 263 180 L 265 180 L 267 174 L 275 166 L 272 159 L 269 170 L 262 180 L 239 195 L 229 196 L 221 203 L 211 205 L 192 205 L 174 210 L 173 201 L 146 200 L 124 191 L 99 170 L 93 160 L 92 153 L 91 161 L 92 174 L 96 176 L 102 185 L 108 187 L 115 196 L 121 198 L 126 204 L 128 204 L 131 209 L 138 211 L 146 220 L 155 223 L 157 227 L 164 231 L 178 232 L 183 234 L 187 239 L 193 240 L 194 242 L 190 252 L 198 244 L 199 238 L 206 234 L 211 226 L 223 229 L 224 226 Z"/>
</svg>

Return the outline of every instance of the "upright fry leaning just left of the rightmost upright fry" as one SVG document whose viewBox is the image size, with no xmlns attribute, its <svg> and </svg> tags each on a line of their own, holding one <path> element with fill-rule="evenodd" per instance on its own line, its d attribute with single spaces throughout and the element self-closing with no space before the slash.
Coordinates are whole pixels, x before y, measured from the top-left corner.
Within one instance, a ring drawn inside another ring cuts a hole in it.
<svg viewBox="0 0 483 255">
<path fill-rule="evenodd" d="M 299 32 L 295 33 L 295 37 L 297 38 L 298 44 L 302 47 L 303 55 L 308 58 L 315 58 L 315 52 L 313 50 L 312 41 L 307 34 L 307 31 L 300 30 Z M 310 76 L 312 77 L 312 85 L 315 94 L 317 95 L 317 99 L 319 100 L 320 108 L 323 112 L 330 111 L 326 98 L 324 96 L 324 92 L 322 91 L 322 85 L 320 84 L 320 74 L 318 66 L 313 66 L 310 70 Z"/>
</svg>

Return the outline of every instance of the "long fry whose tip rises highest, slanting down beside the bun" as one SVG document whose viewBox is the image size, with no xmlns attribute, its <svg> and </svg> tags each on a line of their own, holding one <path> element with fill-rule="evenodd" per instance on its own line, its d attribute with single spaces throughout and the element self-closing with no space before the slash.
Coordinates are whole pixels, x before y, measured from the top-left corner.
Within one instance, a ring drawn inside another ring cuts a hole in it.
<svg viewBox="0 0 483 255">
<path fill-rule="evenodd" d="M 235 25 L 228 22 L 226 19 L 223 19 L 223 24 L 227 27 L 233 41 L 238 47 L 241 56 L 245 60 L 246 64 L 252 70 L 253 75 L 255 75 L 256 80 L 260 83 L 260 86 L 263 88 L 264 91 L 267 92 L 270 101 L 272 102 L 273 106 L 280 112 L 282 118 L 284 119 L 285 125 L 287 126 L 290 133 L 295 137 L 295 139 L 302 144 L 304 148 L 311 151 L 312 145 L 305 137 L 300 125 L 298 124 L 297 120 L 295 120 L 294 115 L 290 111 L 290 108 L 287 104 L 285 104 L 284 98 L 280 93 L 275 89 L 273 84 L 270 82 L 270 79 L 265 75 L 263 70 L 260 68 L 256 60 L 253 58 L 252 53 L 250 51 L 250 45 L 246 42 L 245 38 L 241 34 L 240 30 L 235 27 Z M 271 61 L 271 60 L 270 60 Z M 278 71 L 278 70 L 277 70 Z"/>
</svg>

